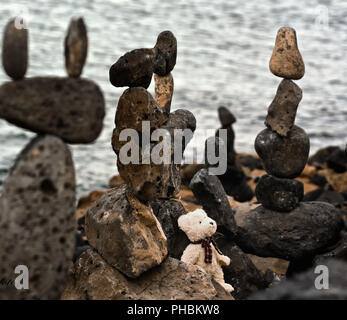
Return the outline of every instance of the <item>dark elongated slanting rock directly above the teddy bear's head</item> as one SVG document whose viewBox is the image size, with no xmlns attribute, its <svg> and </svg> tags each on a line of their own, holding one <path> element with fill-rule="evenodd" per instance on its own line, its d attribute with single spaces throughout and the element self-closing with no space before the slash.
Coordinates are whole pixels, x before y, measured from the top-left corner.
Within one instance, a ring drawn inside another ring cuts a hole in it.
<svg viewBox="0 0 347 320">
<path fill-rule="evenodd" d="M 219 227 L 225 227 L 229 232 L 235 231 L 234 212 L 218 177 L 209 175 L 207 169 L 201 169 L 195 174 L 189 187 Z"/>
</svg>

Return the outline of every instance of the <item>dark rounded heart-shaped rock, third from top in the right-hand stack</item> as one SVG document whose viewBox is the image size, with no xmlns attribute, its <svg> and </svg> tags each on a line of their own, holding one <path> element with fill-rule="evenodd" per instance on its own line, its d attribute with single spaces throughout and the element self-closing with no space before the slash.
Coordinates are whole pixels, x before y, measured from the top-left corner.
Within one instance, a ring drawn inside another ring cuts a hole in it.
<svg viewBox="0 0 347 320">
<path fill-rule="evenodd" d="M 310 140 L 303 129 L 294 125 L 287 137 L 264 129 L 254 146 L 267 173 L 278 178 L 295 178 L 305 168 Z"/>
</svg>

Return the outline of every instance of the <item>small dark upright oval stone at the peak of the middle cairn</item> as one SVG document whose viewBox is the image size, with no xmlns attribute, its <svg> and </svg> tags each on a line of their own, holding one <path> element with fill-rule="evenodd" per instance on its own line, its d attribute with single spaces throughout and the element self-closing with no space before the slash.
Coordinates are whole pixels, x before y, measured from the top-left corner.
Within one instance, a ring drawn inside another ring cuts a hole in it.
<svg viewBox="0 0 347 320">
<path fill-rule="evenodd" d="M 168 75 L 176 64 L 177 40 L 171 31 L 163 31 L 158 35 L 155 50 L 154 72 L 159 76 Z"/>
</svg>

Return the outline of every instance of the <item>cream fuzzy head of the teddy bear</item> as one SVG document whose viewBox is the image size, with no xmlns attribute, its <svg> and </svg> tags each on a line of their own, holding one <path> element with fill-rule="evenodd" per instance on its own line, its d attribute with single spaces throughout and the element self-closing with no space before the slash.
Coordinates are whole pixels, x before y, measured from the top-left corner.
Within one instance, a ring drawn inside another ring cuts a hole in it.
<svg viewBox="0 0 347 320">
<path fill-rule="evenodd" d="M 178 218 L 178 226 L 192 242 L 211 237 L 217 230 L 217 223 L 209 218 L 202 209 L 180 216 Z"/>
</svg>

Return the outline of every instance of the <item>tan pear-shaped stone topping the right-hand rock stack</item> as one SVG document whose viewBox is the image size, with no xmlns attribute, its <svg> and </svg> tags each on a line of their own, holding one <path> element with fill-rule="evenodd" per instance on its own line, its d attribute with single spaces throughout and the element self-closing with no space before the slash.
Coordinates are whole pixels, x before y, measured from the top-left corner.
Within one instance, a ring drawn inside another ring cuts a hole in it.
<svg viewBox="0 0 347 320">
<path fill-rule="evenodd" d="M 269 66 L 271 72 L 281 78 L 298 80 L 304 76 L 305 64 L 293 28 L 282 27 L 278 30 Z"/>
</svg>

